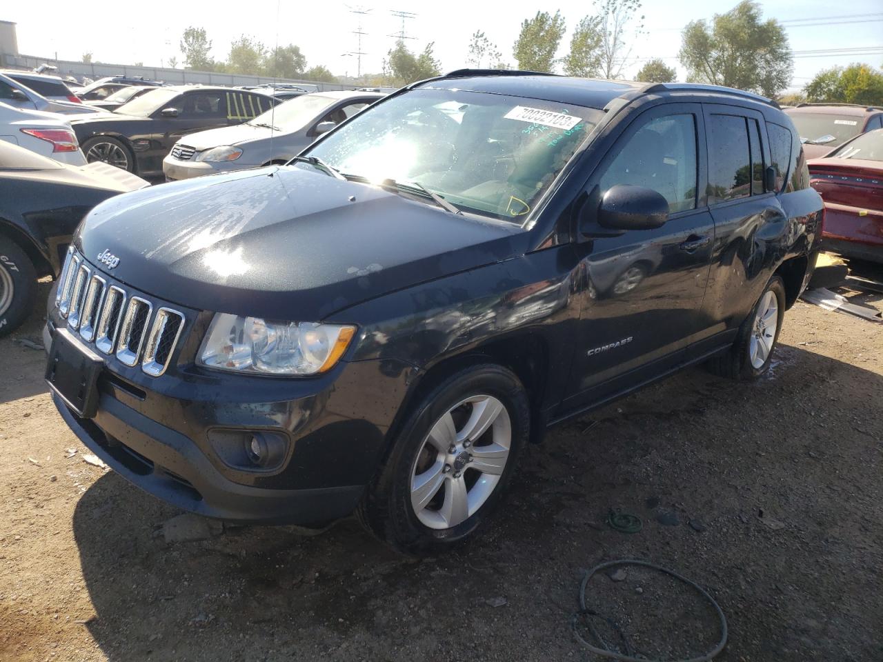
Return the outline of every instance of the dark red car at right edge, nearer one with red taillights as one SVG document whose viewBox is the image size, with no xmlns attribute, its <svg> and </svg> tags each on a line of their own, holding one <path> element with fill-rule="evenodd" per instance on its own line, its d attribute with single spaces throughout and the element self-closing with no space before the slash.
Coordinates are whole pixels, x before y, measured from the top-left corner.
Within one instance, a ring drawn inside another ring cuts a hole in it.
<svg viewBox="0 0 883 662">
<path fill-rule="evenodd" d="M 883 129 L 807 164 L 810 185 L 825 200 L 822 248 L 883 263 Z"/>
</svg>

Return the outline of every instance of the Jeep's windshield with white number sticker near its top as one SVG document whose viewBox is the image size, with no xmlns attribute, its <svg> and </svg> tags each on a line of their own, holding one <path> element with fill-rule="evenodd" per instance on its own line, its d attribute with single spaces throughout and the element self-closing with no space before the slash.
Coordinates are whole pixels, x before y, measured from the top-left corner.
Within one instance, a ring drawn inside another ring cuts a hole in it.
<svg viewBox="0 0 883 662">
<path fill-rule="evenodd" d="M 521 223 L 600 117 L 567 103 L 417 89 L 306 154 L 344 176 L 417 182 L 464 211 Z"/>
</svg>

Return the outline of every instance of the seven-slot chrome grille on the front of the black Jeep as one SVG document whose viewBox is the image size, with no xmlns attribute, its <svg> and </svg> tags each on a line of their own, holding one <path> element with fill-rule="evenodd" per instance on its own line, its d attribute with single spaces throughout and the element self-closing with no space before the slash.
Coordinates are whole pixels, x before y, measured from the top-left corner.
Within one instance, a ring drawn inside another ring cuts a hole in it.
<svg viewBox="0 0 883 662">
<path fill-rule="evenodd" d="M 185 328 L 186 318 L 165 306 L 153 305 L 128 288 L 109 284 L 82 254 L 71 248 L 58 276 L 56 306 L 67 325 L 85 342 L 151 377 L 166 372 Z"/>
</svg>

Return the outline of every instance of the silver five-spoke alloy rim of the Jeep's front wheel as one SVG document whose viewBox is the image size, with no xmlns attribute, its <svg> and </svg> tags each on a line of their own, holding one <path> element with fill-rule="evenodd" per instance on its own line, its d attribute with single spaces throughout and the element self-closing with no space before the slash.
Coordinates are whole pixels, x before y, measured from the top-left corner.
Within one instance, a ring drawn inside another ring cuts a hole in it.
<svg viewBox="0 0 883 662">
<path fill-rule="evenodd" d="M 446 411 L 411 466 L 411 507 L 420 523 L 449 529 L 473 515 L 500 482 L 512 445 L 509 411 L 472 395 Z"/>
</svg>

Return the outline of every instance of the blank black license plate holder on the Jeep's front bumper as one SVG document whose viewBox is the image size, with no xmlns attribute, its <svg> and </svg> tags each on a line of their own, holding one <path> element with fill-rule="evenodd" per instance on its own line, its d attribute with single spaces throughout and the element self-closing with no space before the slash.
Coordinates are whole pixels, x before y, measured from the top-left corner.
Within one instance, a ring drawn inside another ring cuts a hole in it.
<svg viewBox="0 0 883 662">
<path fill-rule="evenodd" d="M 46 364 L 46 381 L 80 418 L 93 418 L 98 410 L 98 376 L 104 361 L 57 328 Z"/>
</svg>

